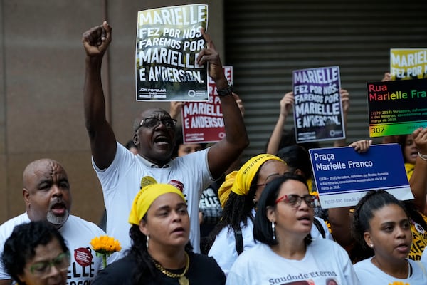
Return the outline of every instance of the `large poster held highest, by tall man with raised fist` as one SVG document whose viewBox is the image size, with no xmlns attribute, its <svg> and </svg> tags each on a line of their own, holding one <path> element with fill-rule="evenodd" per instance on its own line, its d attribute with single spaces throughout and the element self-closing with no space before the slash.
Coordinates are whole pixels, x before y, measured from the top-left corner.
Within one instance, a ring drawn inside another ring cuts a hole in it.
<svg viewBox="0 0 427 285">
<path fill-rule="evenodd" d="M 208 100 L 207 66 L 196 64 L 206 46 L 208 6 L 191 4 L 138 12 L 137 101 Z"/>
</svg>

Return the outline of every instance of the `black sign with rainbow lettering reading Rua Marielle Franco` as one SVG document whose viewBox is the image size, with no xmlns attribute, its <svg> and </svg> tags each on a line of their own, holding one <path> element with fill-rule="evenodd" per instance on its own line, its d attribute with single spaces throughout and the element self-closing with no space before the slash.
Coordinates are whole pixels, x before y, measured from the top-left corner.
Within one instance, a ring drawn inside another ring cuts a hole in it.
<svg viewBox="0 0 427 285">
<path fill-rule="evenodd" d="M 427 126 L 427 79 L 367 83 L 369 136 L 406 135 Z"/>
</svg>

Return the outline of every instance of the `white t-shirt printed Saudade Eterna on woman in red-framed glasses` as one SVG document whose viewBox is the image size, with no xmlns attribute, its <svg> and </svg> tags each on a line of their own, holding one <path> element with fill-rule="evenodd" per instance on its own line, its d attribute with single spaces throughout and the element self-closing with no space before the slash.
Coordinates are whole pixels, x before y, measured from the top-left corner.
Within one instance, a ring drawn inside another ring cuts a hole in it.
<svg viewBox="0 0 427 285">
<path fill-rule="evenodd" d="M 347 252 L 329 239 L 315 239 L 301 260 L 285 259 L 267 244 L 256 244 L 236 259 L 226 284 L 281 285 L 305 281 L 323 285 L 328 279 L 339 285 L 359 284 Z"/>
</svg>

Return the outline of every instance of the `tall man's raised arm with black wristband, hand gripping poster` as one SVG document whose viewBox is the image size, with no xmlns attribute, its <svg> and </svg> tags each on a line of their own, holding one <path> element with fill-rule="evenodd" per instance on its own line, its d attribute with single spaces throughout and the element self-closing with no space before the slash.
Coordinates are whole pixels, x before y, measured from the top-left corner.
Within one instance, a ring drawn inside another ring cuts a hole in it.
<svg viewBox="0 0 427 285">
<path fill-rule="evenodd" d="M 204 33 L 204 38 L 208 43 L 208 48 L 204 48 L 199 53 L 196 61 L 199 65 L 209 63 L 209 76 L 214 79 L 216 88 L 218 88 L 218 90 L 226 89 L 228 88 L 228 81 L 226 76 L 224 76 L 218 52 L 209 35 Z M 238 108 L 232 92 L 230 91 L 228 95 L 220 96 L 220 100 L 226 136 L 212 145 L 208 153 L 209 170 L 211 171 L 211 175 L 215 178 L 220 177 L 226 172 L 228 167 L 230 167 L 239 155 L 241 155 L 241 152 L 243 152 L 249 144 L 241 111 Z"/>
</svg>

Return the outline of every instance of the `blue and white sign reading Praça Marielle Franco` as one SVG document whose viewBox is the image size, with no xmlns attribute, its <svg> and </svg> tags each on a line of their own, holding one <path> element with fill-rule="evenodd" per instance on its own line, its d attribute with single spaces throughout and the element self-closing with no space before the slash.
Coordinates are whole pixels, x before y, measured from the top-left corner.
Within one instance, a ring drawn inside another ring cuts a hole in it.
<svg viewBox="0 0 427 285">
<path fill-rule="evenodd" d="M 310 158 L 323 208 L 349 207 L 369 190 L 386 190 L 397 199 L 413 199 L 398 144 L 311 149 Z"/>
</svg>

